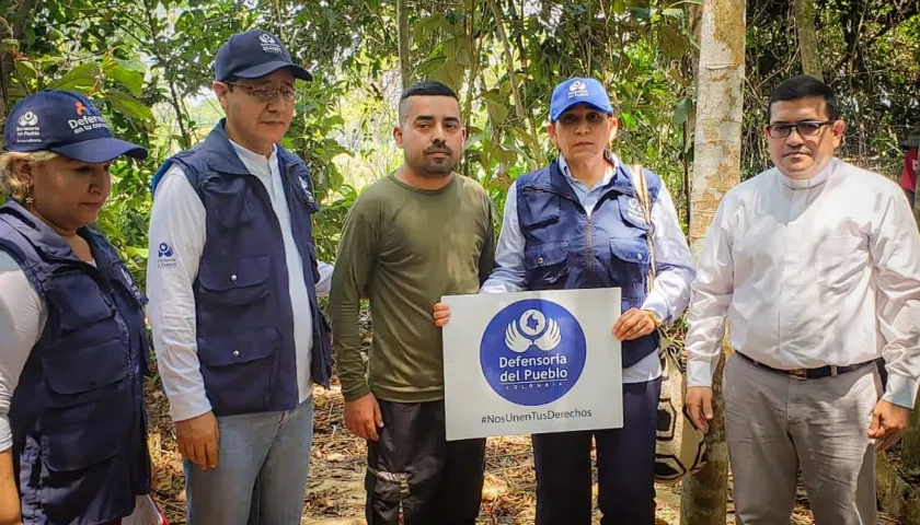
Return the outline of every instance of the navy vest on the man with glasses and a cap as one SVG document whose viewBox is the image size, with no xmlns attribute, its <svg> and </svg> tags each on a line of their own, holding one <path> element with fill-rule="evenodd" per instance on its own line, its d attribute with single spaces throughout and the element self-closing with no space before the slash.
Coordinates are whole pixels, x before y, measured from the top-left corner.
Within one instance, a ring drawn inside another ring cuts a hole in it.
<svg viewBox="0 0 920 525">
<path fill-rule="evenodd" d="M 277 152 L 313 315 L 310 372 L 327 387 L 329 325 L 317 302 L 320 273 L 311 222 L 319 208 L 307 165 L 280 145 Z M 268 192 L 240 161 L 223 120 L 204 142 L 160 167 L 154 191 L 172 163 L 185 172 L 207 210 L 207 240 L 193 291 L 198 360 L 214 412 L 290 410 L 299 401 L 294 313 L 281 228 Z"/>
</svg>

